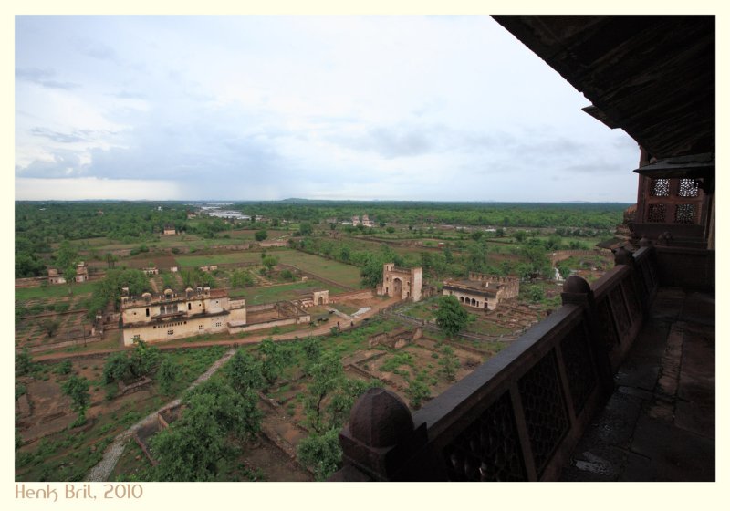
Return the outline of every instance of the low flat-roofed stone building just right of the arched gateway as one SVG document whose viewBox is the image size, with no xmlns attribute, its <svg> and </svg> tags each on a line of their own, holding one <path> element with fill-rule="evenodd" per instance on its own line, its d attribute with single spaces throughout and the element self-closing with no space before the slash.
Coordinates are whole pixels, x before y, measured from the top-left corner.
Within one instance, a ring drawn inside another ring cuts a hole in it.
<svg viewBox="0 0 730 511">
<path fill-rule="evenodd" d="M 470 272 L 468 280 L 444 281 L 442 294 L 457 297 L 465 306 L 495 310 L 500 300 L 519 295 L 519 279 Z"/>
</svg>

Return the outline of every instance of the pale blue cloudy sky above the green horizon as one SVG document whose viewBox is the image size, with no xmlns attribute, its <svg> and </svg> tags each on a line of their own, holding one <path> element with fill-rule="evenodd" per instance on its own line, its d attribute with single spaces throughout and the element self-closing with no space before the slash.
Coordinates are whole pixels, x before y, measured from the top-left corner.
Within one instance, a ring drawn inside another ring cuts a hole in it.
<svg viewBox="0 0 730 511">
<path fill-rule="evenodd" d="M 18 200 L 636 198 L 487 16 L 16 16 Z"/>
</svg>

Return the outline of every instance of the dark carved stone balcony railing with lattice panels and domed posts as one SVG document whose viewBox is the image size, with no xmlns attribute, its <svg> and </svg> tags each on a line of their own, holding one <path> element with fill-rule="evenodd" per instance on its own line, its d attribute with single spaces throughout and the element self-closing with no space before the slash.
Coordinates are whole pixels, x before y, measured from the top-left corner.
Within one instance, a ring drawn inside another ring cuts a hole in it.
<svg viewBox="0 0 730 511">
<path fill-rule="evenodd" d="M 332 481 L 549 481 L 613 391 L 613 374 L 659 286 L 655 249 L 615 253 L 592 287 L 570 276 L 563 306 L 422 410 L 391 391 L 360 396 L 339 433 Z"/>
</svg>

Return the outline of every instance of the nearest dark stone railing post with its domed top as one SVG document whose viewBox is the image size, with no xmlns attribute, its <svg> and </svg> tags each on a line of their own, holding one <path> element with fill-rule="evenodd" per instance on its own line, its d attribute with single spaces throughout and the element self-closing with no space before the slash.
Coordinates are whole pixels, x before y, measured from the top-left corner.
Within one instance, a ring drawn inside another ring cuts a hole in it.
<svg viewBox="0 0 730 511">
<path fill-rule="evenodd" d="M 416 428 L 411 411 L 397 394 L 370 389 L 339 433 L 343 468 L 330 481 L 407 481 L 417 467 L 409 461 L 427 443 L 426 425 Z"/>
</svg>

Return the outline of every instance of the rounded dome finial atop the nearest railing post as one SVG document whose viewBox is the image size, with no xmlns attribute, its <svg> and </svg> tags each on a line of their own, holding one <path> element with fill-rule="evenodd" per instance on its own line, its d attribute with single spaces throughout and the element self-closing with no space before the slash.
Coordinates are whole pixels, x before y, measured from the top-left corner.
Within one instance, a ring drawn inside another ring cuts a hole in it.
<svg viewBox="0 0 730 511">
<path fill-rule="evenodd" d="M 412 435 L 413 419 L 396 393 L 369 389 L 349 413 L 349 432 L 352 438 L 370 447 L 388 447 Z"/>
</svg>

